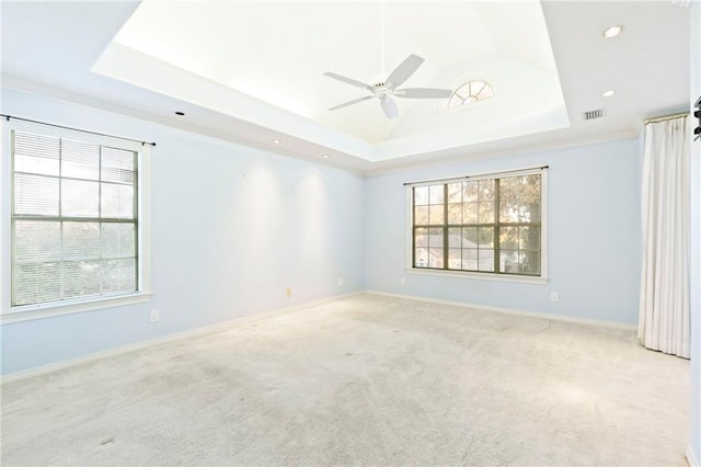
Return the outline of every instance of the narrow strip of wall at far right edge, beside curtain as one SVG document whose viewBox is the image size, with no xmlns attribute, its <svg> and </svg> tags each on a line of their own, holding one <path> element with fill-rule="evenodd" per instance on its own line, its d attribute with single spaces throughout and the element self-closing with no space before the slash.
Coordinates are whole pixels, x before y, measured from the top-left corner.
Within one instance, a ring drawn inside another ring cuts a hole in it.
<svg viewBox="0 0 701 467">
<path fill-rule="evenodd" d="M 691 104 L 701 95 L 701 3 L 690 7 Z M 696 127 L 698 124 L 693 124 Z M 691 437 L 689 448 L 701 462 L 701 140 L 691 144 Z"/>
</svg>

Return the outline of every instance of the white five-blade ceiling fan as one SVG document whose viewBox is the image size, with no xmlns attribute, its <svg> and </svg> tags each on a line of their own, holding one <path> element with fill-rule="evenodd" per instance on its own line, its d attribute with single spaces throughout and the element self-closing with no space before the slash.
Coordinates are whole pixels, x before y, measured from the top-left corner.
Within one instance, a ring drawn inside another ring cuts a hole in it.
<svg viewBox="0 0 701 467">
<path fill-rule="evenodd" d="M 418 55 L 410 55 L 404 61 L 400 64 L 399 67 L 392 71 L 383 82 L 377 82 L 372 86 L 366 84 L 364 82 L 354 80 L 352 78 L 346 78 L 341 75 L 332 73 L 326 71 L 324 76 L 329 78 L 336 79 L 338 81 L 343 81 L 347 84 L 355 86 L 357 88 L 363 88 L 366 91 L 370 91 L 371 95 L 366 95 L 364 98 L 354 99 L 353 101 L 344 102 L 343 104 L 335 105 L 330 111 L 335 111 L 338 109 L 346 107 L 348 105 L 357 104 L 358 102 L 367 101 L 372 98 L 378 98 L 380 100 L 380 106 L 387 115 L 388 118 L 397 118 L 399 116 L 399 111 L 397 109 L 397 103 L 392 100 L 392 98 L 406 98 L 406 99 L 445 99 L 449 98 L 452 94 L 452 91 L 449 89 L 435 89 L 435 88 L 404 88 L 397 89 L 402 86 L 404 81 L 406 81 L 414 72 L 421 67 L 421 64 L 424 62 L 424 59 Z"/>
</svg>

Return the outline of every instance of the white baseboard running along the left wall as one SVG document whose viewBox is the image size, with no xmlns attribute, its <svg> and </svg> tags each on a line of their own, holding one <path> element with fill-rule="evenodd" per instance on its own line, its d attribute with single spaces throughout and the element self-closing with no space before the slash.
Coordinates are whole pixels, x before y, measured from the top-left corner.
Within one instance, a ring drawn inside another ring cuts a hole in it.
<svg viewBox="0 0 701 467">
<path fill-rule="evenodd" d="M 9 373 L 2 377 L 0 377 L 0 385 L 19 381 L 21 379 L 31 378 L 33 376 L 45 375 L 48 373 L 57 372 L 60 369 L 70 368 L 71 366 L 81 365 L 83 363 L 94 362 L 102 358 L 107 358 L 115 355 L 120 355 L 128 352 L 138 351 L 141 349 L 150 348 L 153 345 L 163 344 L 166 342 L 177 341 L 181 339 L 192 338 L 196 335 L 215 333 L 218 331 L 222 331 L 226 328 L 242 324 L 245 322 L 260 321 L 262 319 L 271 318 L 278 315 L 285 315 L 294 311 L 299 311 L 304 308 L 313 307 L 317 305 L 322 305 L 332 300 L 337 300 L 341 298 L 352 297 L 354 295 L 363 294 L 364 292 L 353 292 L 349 294 L 343 295 L 333 295 L 331 297 L 320 298 L 318 300 L 306 301 L 303 304 L 292 305 L 290 307 L 278 308 L 275 310 L 263 311 L 255 315 L 246 316 L 243 318 L 234 318 L 228 321 L 217 322 L 215 324 L 203 326 L 200 328 L 194 328 L 183 332 L 176 332 L 173 334 L 163 335 L 160 338 L 148 339 L 146 341 L 135 342 L 133 344 L 119 345 L 117 348 L 107 349 L 105 351 L 91 353 L 88 355 L 79 356 L 76 358 L 62 360 L 60 362 L 50 363 L 48 365 L 42 365 L 30 369 L 24 369 L 20 372 Z"/>
</svg>

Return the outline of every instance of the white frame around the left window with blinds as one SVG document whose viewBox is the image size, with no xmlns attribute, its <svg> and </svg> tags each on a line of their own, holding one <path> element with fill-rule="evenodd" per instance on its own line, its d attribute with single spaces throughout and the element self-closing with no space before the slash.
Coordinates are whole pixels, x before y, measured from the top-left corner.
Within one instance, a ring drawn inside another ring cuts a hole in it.
<svg viewBox="0 0 701 467">
<path fill-rule="evenodd" d="M 74 312 L 92 311 L 103 308 L 134 305 L 148 301 L 151 297 L 151 187 L 150 187 L 150 146 L 120 138 L 92 135 L 76 130 L 55 128 L 46 125 L 2 121 L 0 128 L 0 322 L 11 323 L 32 319 Z M 110 297 L 82 297 L 35 305 L 11 305 L 11 200 L 12 200 L 12 132 L 27 132 L 39 135 L 74 139 L 96 145 L 110 145 L 138 152 L 137 194 L 138 194 L 138 291 Z"/>
</svg>

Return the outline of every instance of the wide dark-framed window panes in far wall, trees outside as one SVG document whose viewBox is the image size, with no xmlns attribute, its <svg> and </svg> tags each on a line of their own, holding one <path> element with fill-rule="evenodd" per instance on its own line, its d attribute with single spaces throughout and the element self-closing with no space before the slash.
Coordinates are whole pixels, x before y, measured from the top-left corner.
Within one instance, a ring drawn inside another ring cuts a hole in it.
<svg viewBox="0 0 701 467">
<path fill-rule="evenodd" d="M 411 187 L 412 267 L 542 277 L 544 170 Z"/>
</svg>

